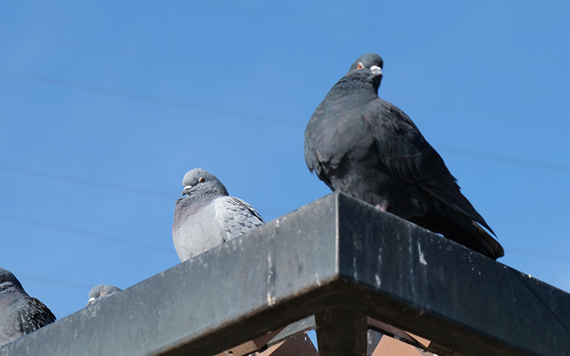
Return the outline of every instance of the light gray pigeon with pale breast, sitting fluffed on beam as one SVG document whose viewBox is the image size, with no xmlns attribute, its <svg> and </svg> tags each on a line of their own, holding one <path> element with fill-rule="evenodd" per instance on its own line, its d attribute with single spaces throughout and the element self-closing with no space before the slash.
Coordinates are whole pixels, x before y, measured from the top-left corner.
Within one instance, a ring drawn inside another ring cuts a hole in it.
<svg viewBox="0 0 570 356">
<path fill-rule="evenodd" d="M 176 201 L 172 224 L 182 262 L 265 224 L 251 205 L 229 197 L 224 184 L 204 169 L 187 172 L 182 185 L 186 197 Z"/>
</svg>

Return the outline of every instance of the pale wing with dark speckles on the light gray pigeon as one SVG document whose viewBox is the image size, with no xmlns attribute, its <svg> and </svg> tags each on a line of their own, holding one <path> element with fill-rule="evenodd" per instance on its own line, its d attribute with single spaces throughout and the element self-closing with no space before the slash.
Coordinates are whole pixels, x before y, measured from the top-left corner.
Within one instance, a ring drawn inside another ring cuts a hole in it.
<svg viewBox="0 0 570 356">
<path fill-rule="evenodd" d="M 226 232 L 227 240 L 265 224 L 257 211 L 242 199 L 221 197 L 214 204 L 219 226 Z"/>
</svg>

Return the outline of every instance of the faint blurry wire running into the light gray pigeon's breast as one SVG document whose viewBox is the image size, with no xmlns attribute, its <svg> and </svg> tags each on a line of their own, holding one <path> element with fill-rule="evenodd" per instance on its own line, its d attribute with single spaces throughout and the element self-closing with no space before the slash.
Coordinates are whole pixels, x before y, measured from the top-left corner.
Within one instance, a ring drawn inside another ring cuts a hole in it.
<svg viewBox="0 0 570 356">
<path fill-rule="evenodd" d="M 85 237 L 88 237 L 90 239 L 98 239 L 101 241 L 112 242 L 113 244 L 121 244 L 121 245 L 125 245 L 125 246 L 143 248 L 146 250 L 157 251 L 160 253 L 168 253 L 168 254 L 173 253 L 172 248 L 165 248 L 164 246 L 158 246 L 155 244 L 147 244 L 146 242 L 142 242 L 142 241 L 125 239 L 123 237 L 113 236 L 113 235 L 108 235 L 108 234 L 101 234 L 100 232 L 88 231 L 85 229 L 78 229 L 78 228 L 73 227 L 73 226 L 56 224 L 56 223 L 53 223 L 50 221 L 31 219 L 31 218 L 28 218 L 26 216 L 9 214 L 9 213 L 6 213 L 4 211 L 0 211 L 0 219 L 16 221 L 16 222 L 19 222 L 21 224 L 26 224 L 26 225 L 31 225 L 31 226 L 39 226 L 39 227 L 43 227 L 45 229 L 63 231 L 63 232 L 66 232 L 68 234 L 85 236 Z"/>
</svg>

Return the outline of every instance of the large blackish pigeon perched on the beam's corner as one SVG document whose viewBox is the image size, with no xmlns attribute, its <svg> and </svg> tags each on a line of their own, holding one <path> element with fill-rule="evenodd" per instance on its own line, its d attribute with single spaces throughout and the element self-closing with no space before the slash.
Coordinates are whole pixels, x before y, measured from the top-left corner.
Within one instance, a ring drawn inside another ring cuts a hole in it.
<svg viewBox="0 0 570 356">
<path fill-rule="evenodd" d="M 408 115 L 378 98 L 383 61 L 366 53 L 316 108 L 305 161 L 333 191 L 442 234 L 485 256 L 504 256 L 440 155 Z"/>
</svg>

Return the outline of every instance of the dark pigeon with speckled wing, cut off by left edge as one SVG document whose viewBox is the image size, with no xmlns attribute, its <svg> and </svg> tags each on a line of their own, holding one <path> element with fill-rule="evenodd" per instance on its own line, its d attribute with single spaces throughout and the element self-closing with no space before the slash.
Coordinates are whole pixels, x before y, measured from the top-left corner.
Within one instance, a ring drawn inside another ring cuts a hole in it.
<svg viewBox="0 0 570 356">
<path fill-rule="evenodd" d="M 0 268 L 0 346 L 54 321 L 46 305 L 31 298 L 14 274 Z"/>
</svg>

